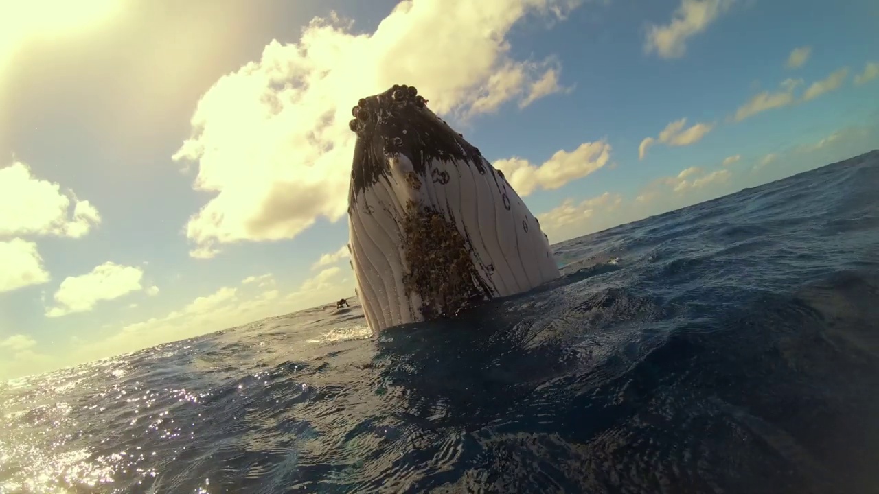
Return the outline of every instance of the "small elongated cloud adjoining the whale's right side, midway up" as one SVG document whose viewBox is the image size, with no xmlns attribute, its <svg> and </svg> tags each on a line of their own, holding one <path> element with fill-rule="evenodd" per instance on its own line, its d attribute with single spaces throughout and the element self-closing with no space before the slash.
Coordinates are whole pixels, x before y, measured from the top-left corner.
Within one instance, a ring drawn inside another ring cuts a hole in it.
<svg viewBox="0 0 879 494">
<path fill-rule="evenodd" d="M 611 145 L 602 140 L 584 142 L 573 151 L 560 149 L 540 165 L 519 157 L 495 160 L 492 165 L 503 171 L 516 193 L 524 197 L 539 188 L 551 191 L 584 178 L 605 166 L 610 153 Z"/>
</svg>

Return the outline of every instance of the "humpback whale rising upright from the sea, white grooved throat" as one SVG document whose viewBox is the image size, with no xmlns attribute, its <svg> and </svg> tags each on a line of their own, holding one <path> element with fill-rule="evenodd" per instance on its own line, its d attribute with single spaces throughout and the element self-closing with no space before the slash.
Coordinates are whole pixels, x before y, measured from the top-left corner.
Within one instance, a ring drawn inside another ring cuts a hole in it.
<svg viewBox="0 0 879 494">
<path fill-rule="evenodd" d="M 454 316 L 559 277 L 540 222 L 415 87 L 360 98 L 348 251 L 374 332 Z"/>
</svg>

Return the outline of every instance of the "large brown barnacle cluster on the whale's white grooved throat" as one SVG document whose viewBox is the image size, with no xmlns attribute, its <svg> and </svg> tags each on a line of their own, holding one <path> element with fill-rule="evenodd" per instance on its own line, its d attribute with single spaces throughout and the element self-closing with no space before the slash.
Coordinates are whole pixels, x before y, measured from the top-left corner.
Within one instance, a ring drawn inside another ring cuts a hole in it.
<svg viewBox="0 0 879 494">
<path fill-rule="evenodd" d="M 410 200 L 403 235 L 409 265 L 403 287 L 407 293 L 421 295 L 425 319 L 457 313 L 485 298 L 464 237 L 442 214 Z"/>
</svg>

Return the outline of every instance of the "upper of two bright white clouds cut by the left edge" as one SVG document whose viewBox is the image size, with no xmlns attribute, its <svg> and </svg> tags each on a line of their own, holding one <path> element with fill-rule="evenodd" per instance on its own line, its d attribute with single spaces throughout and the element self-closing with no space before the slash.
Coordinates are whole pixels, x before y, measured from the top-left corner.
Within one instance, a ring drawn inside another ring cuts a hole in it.
<svg viewBox="0 0 879 494">
<path fill-rule="evenodd" d="M 62 193 L 61 185 L 34 177 L 27 164 L 0 169 L 0 236 L 79 238 L 100 222 L 88 200 L 77 200 L 72 192 Z"/>
</svg>

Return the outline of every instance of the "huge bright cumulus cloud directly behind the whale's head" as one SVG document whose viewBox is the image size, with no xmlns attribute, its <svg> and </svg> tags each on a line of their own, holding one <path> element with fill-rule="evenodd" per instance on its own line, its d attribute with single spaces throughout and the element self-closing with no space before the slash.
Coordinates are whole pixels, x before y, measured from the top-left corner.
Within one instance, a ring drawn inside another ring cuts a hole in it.
<svg viewBox="0 0 879 494">
<path fill-rule="evenodd" d="M 363 96 L 415 85 L 435 112 L 465 118 L 559 91 L 556 59 L 517 60 L 507 35 L 528 14 L 563 18 L 579 3 L 405 0 L 374 33 L 333 15 L 314 19 L 296 43 L 273 40 L 201 97 L 192 136 L 173 156 L 197 163 L 194 188 L 214 193 L 187 224 L 191 254 L 292 238 L 318 217 L 342 218 L 348 120 Z"/>
</svg>

